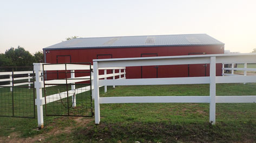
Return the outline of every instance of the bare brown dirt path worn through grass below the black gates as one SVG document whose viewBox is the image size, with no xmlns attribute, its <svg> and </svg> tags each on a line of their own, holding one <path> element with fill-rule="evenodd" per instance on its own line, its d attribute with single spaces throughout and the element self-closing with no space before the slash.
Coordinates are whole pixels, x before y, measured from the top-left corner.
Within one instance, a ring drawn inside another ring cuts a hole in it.
<svg viewBox="0 0 256 143">
<path fill-rule="evenodd" d="M 64 128 L 55 127 L 55 128 L 52 128 L 52 130 L 50 130 L 49 132 L 38 134 L 38 135 L 35 135 L 35 137 L 29 137 L 29 138 L 19 138 L 20 134 L 17 132 L 14 132 L 14 133 L 11 133 L 9 137 L 0 137 L 0 142 L 17 142 L 17 143 L 28 142 L 29 143 L 29 142 L 40 142 L 40 140 L 43 142 L 46 138 L 50 137 L 51 135 L 55 136 L 57 134 L 62 134 L 62 133 L 69 134 L 73 131 L 75 127 L 85 126 L 88 123 L 90 123 L 90 121 L 93 120 L 93 118 L 84 118 L 84 117 L 70 117 L 70 118 L 73 118 L 75 120 L 76 122 L 75 126 L 70 125 Z M 60 118 L 58 118 L 57 120 L 60 120 Z M 52 123 L 52 124 L 49 124 L 48 126 L 54 126 L 55 124 L 56 123 Z M 47 128 L 47 126 L 45 128 Z"/>
</svg>

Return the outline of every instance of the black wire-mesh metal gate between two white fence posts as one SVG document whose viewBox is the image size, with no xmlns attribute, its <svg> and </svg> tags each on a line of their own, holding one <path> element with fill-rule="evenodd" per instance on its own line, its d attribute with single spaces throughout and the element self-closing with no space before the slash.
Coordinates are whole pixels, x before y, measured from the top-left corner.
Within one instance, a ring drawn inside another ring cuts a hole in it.
<svg viewBox="0 0 256 143">
<path fill-rule="evenodd" d="M 44 64 L 45 115 L 92 117 L 91 71 L 91 63 Z"/>
</svg>

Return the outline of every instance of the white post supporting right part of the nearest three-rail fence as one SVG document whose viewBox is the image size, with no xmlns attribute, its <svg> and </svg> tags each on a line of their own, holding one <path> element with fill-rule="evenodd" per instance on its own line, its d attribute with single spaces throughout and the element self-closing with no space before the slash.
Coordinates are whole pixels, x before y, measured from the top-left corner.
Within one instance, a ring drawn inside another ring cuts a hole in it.
<svg viewBox="0 0 256 143">
<path fill-rule="evenodd" d="M 210 113 L 209 121 L 215 124 L 215 110 L 216 110 L 216 57 L 212 56 L 210 60 Z"/>
</svg>

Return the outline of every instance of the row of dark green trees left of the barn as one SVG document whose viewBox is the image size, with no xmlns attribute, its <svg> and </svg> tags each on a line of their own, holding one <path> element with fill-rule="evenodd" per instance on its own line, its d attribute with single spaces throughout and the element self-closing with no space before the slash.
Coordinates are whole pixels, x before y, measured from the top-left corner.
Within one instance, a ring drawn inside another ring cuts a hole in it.
<svg viewBox="0 0 256 143">
<path fill-rule="evenodd" d="M 0 67 L 31 67 L 33 63 L 44 62 L 43 52 L 38 51 L 32 55 L 23 47 L 11 47 L 4 54 L 0 53 Z"/>
</svg>

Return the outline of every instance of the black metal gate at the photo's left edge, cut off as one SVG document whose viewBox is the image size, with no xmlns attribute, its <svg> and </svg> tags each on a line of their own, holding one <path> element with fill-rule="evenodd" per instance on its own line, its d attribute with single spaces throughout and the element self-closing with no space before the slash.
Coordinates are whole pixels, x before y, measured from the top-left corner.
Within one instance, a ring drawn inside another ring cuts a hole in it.
<svg viewBox="0 0 256 143">
<path fill-rule="evenodd" d="M 35 118 L 33 67 L 0 67 L 0 116 Z"/>
</svg>

